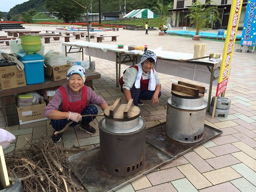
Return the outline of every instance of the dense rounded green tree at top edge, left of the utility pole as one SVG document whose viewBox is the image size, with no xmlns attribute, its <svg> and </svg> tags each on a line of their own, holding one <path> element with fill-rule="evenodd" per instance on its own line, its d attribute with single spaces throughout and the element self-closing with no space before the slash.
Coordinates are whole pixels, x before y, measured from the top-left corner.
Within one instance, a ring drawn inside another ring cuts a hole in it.
<svg viewBox="0 0 256 192">
<path fill-rule="evenodd" d="M 84 6 L 84 0 L 76 0 L 76 2 Z M 54 13 L 56 17 L 63 19 L 66 23 L 79 19 L 86 12 L 83 7 L 72 0 L 46 0 L 46 7 L 49 12 Z"/>
</svg>

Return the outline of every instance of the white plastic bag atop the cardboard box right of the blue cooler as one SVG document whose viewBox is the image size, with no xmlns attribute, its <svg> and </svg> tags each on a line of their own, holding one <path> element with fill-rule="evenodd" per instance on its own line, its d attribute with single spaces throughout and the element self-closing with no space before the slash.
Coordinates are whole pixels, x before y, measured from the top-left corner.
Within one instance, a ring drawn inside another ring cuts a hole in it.
<svg viewBox="0 0 256 192">
<path fill-rule="evenodd" d="M 48 51 L 45 55 L 45 64 L 49 66 L 62 66 L 67 64 L 67 58 L 60 52 L 53 50 Z"/>
</svg>

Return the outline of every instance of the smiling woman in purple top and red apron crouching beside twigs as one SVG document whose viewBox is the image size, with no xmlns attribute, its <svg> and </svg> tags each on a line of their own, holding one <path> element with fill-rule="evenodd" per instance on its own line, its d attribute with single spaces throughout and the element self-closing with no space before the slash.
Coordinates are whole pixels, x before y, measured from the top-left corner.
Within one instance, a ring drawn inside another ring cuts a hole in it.
<svg viewBox="0 0 256 192">
<path fill-rule="evenodd" d="M 99 97 L 90 87 L 84 85 L 86 71 L 81 66 L 72 66 L 67 72 L 68 82 L 63 84 L 53 96 L 53 99 L 45 108 L 45 116 L 51 119 L 55 131 L 62 130 L 70 121 L 71 126 L 79 124 L 80 130 L 94 134 L 96 130 L 89 123 L 95 117 L 82 117 L 82 115 L 97 115 L 97 107 L 104 109 L 108 104 Z M 55 132 L 54 131 L 54 132 Z M 53 134 L 52 140 L 59 142 L 60 134 Z"/>
</svg>

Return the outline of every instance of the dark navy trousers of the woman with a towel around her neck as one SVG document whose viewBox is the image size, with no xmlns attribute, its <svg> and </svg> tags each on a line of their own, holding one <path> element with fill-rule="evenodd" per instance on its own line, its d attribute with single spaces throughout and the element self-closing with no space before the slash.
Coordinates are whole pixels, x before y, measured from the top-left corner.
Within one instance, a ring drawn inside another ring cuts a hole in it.
<svg viewBox="0 0 256 192">
<path fill-rule="evenodd" d="M 121 92 L 123 93 L 123 88 L 120 89 Z M 141 100 L 151 100 L 153 97 L 153 94 L 155 93 L 155 91 L 150 91 L 150 90 L 141 90 L 140 88 L 137 89 L 135 88 L 135 86 L 133 85 L 131 91 L 131 95 L 133 98 L 133 103 L 135 106 L 137 106 L 138 101 Z M 158 98 L 161 96 L 161 92 L 159 92 Z"/>
</svg>

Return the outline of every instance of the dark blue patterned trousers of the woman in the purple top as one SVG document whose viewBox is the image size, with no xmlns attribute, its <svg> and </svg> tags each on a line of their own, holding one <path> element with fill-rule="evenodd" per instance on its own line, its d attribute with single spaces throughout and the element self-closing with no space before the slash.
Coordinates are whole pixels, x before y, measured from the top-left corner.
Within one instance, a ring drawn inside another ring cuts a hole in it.
<svg viewBox="0 0 256 192">
<path fill-rule="evenodd" d="M 95 105 L 88 105 L 84 110 L 81 112 L 81 115 L 97 115 L 98 109 Z M 93 121 L 95 117 L 82 117 L 81 124 L 87 125 L 91 121 Z M 52 127 L 55 131 L 63 130 L 63 128 L 68 124 L 71 120 L 68 119 L 59 119 L 59 120 L 53 120 L 51 119 Z M 78 124 L 77 122 L 73 122 L 70 126 L 75 126 Z"/>
</svg>

